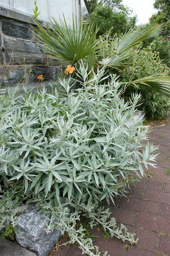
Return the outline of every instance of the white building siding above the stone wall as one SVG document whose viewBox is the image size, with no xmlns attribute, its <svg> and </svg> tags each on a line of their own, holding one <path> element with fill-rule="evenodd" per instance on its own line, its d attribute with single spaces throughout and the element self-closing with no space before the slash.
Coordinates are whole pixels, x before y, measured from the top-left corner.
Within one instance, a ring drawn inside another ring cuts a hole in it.
<svg viewBox="0 0 170 256">
<path fill-rule="evenodd" d="M 72 15 L 79 19 L 84 11 L 87 12 L 87 1 L 84 0 L 37 0 L 37 6 L 40 11 L 39 18 L 44 22 L 48 22 L 52 17 L 59 19 L 63 15 L 66 21 L 70 22 Z M 9 10 L 8 16 L 11 16 L 12 11 L 18 17 L 19 14 L 34 17 L 34 0 L 0 0 L 0 7 Z"/>
</svg>

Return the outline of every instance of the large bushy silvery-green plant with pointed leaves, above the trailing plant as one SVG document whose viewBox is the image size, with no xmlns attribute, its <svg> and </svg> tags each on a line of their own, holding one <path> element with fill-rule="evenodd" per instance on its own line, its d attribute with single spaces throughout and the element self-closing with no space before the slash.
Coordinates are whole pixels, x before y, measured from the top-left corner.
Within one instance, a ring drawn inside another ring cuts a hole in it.
<svg viewBox="0 0 170 256">
<path fill-rule="evenodd" d="M 122 99 L 120 82 L 110 75 L 104 84 L 104 69 L 87 80 L 85 87 L 65 95 L 57 90 L 18 92 L 7 89 L 1 97 L 1 183 L 18 180 L 24 193 L 55 192 L 88 203 L 124 194 L 134 176 L 144 175 L 143 164 L 154 166 L 157 149 L 147 140 L 148 126 L 136 120 L 128 125 L 139 95 Z M 71 84 L 71 83 L 70 83 Z M 0 184 L 1 184 L 0 183 Z"/>
</svg>

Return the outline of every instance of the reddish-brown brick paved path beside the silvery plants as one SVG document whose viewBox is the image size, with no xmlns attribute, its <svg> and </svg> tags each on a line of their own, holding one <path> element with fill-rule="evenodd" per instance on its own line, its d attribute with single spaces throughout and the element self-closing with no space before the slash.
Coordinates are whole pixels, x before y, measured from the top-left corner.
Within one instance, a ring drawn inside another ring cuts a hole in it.
<svg viewBox="0 0 170 256">
<path fill-rule="evenodd" d="M 159 125 L 158 123 L 156 125 Z M 141 182 L 131 189 L 130 198 L 122 198 L 118 207 L 110 207 L 117 222 L 136 233 L 136 246 L 126 246 L 118 239 L 103 238 L 101 231 L 94 231 L 99 238 L 95 245 L 108 251 L 110 256 L 170 255 L 170 119 L 150 135 L 153 144 L 159 144 L 157 168 L 149 168 Z M 129 248 L 128 248 L 129 247 Z M 54 256 L 81 256 L 78 246 L 62 246 Z"/>
</svg>

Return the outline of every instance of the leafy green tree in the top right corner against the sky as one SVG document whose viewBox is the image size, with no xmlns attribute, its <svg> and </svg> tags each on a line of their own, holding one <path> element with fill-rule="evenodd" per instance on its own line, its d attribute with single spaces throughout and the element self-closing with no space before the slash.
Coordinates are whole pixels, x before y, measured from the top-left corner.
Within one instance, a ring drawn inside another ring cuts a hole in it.
<svg viewBox="0 0 170 256">
<path fill-rule="evenodd" d="M 158 10 L 150 18 L 150 23 L 166 23 L 165 35 L 170 35 L 170 1 L 169 0 L 155 0 L 155 9 Z"/>
</svg>

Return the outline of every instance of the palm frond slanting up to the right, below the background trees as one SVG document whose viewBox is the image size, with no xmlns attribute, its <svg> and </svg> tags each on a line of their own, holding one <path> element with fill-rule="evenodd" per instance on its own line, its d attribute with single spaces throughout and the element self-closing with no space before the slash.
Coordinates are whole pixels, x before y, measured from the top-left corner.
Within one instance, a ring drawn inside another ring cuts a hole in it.
<svg viewBox="0 0 170 256">
<path fill-rule="evenodd" d="M 157 25 L 142 25 L 139 26 L 135 30 L 130 30 L 120 38 L 116 53 L 122 54 L 128 51 L 133 46 L 139 44 L 139 42 L 156 35 L 161 34 L 164 31 L 164 24 L 157 24 Z"/>
</svg>

